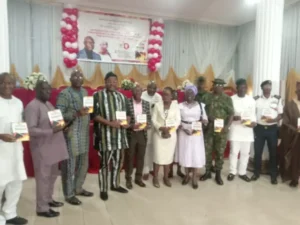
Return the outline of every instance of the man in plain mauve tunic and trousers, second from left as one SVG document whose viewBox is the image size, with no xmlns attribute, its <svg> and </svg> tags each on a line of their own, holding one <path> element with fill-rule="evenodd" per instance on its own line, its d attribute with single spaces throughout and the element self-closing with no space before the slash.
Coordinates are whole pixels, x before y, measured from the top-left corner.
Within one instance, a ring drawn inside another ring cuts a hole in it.
<svg viewBox="0 0 300 225">
<path fill-rule="evenodd" d="M 36 212 L 41 217 L 57 217 L 59 212 L 52 207 L 61 207 L 63 203 L 54 201 L 54 183 L 59 175 L 58 163 L 67 159 L 63 123 L 52 123 L 49 112 L 55 108 L 49 102 L 51 86 L 41 80 L 36 84 L 36 98 L 25 108 L 25 121 L 30 135 L 30 150 L 36 180 Z M 57 117 L 57 115 L 54 115 Z M 60 114 L 62 119 L 62 116 Z M 58 118 L 59 119 L 59 118 Z"/>
</svg>

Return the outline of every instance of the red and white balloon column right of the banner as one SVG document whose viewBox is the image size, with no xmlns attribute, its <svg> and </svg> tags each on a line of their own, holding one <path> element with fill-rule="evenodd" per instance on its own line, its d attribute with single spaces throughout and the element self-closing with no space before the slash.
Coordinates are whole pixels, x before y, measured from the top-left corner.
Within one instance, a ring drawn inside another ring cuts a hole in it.
<svg viewBox="0 0 300 225">
<path fill-rule="evenodd" d="M 162 42 L 165 25 L 162 19 L 154 20 L 151 24 L 151 32 L 148 41 L 148 68 L 151 72 L 161 68 Z"/>
</svg>

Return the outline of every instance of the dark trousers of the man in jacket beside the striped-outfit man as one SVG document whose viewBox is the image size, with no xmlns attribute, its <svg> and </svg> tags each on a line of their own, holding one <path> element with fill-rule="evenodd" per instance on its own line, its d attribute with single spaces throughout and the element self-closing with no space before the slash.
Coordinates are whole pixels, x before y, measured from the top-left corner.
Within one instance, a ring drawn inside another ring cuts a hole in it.
<svg viewBox="0 0 300 225">
<path fill-rule="evenodd" d="M 131 133 L 129 140 L 129 149 L 125 153 L 125 178 L 127 181 L 131 181 L 133 172 L 133 160 L 136 156 L 136 172 L 135 180 L 142 179 L 144 168 L 144 157 L 146 151 L 147 141 L 144 131 L 137 131 Z"/>
</svg>

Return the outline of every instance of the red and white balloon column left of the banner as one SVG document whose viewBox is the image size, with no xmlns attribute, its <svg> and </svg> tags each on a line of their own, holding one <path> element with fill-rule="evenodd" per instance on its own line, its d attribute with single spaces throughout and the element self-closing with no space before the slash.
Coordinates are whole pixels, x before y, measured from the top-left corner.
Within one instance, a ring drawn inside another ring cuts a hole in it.
<svg viewBox="0 0 300 225">
<path fill-rule="evenodd" d="M 61 26 L 61 43 L 64 63 L 67 68 L 77 65 L 78 49 L 78 9 L 72 5 L 66 5 L 63 9 Z"/>
</svg>

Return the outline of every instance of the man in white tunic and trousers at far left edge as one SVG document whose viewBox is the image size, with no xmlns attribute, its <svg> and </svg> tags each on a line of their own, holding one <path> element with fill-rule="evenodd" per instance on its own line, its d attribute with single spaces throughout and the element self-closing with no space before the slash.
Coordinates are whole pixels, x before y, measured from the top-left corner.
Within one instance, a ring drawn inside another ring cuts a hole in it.
<svg viewBox="0 0 300 225">
<path fill-rule="evenodd" d="M 23 104 L 12 95 L 14 79 L 8 73 L 0 74 L 0 225 L 27 224 L 17 216 L 17 204 L 26 180 L 23 146 L 11 134 L 11 123 L 22 122 Z"/>
</svg>

